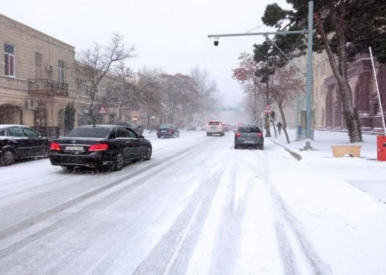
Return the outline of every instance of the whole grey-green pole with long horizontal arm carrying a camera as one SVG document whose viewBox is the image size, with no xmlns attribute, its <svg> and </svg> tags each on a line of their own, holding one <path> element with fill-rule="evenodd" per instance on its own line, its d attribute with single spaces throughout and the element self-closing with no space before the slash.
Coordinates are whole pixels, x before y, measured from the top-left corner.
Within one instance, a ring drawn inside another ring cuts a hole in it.
<svg viewBox="0 0 386 275">
<path fill-rule="evenodd" d="M 265 35 L 270 34 L 308 34 L 307 47 L 307 109 L 306 109 L 306 146 L 304 150 L 312 150 L 311 146 L 311 105 L 312 105 L 312 44 L 313 44 L 313 1 L 308 1 L 308 30 L 294 30 L 294 31 L 272 31 L 272 32 L 249 32 L 249 33 L 227 33 L 227 34 L 209 34 L 208 38 L 218 39 L 220 37 L 234 37 L 234 36 L 251 36 L 251 35 Z M 218 45 L 218 40 L 217 44 Z M 297 126 L 297 125 L 296 125 Z"/>
</svg>

